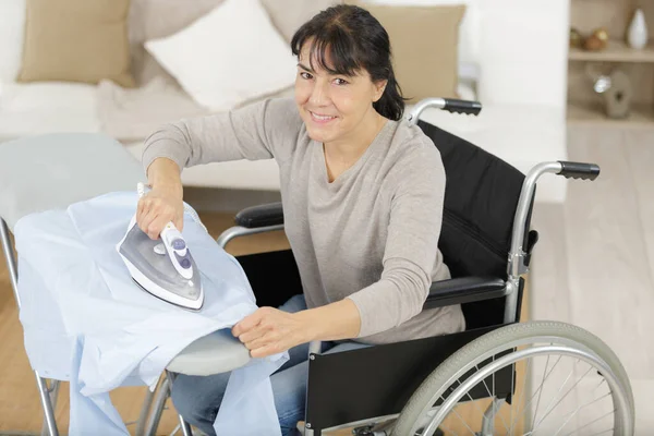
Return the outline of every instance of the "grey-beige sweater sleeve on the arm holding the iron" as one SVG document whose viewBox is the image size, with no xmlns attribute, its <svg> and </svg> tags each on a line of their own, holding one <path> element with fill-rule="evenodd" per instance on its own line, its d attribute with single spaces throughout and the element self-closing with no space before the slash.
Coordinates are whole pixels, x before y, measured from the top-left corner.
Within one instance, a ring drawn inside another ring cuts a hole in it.
<svg viewBox="0 0 654 436">
<path fill-rule="evenodd" d="M 296 143 L 302 120 L 292 99 L 266 99 L 210 116 L 165 124 L 145 141 L 142 164 L 159 157 L 182 170 L 196 165 L 229 161 L 286 159 Z"/>
</svg>

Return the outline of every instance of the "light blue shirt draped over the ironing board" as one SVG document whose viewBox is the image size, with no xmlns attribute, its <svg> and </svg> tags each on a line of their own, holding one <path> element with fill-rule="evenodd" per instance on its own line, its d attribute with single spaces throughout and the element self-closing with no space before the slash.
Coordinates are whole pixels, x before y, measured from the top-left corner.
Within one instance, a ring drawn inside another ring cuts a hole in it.
<svg viewBox="0 0 654 436">
<path fill-rule="evenodd" d="M 189 214 L 183 235 L 202 274 L 203 308 L 180 308 L 140 289 L 116 252 L 136 204 L 135 192 L 111 193 L 25 216 L 14 229 L 25 349 L 43 377 L 70 380 L 71 436 L 128 435 L 109 391 L 154 388 L 187 344 L 257 308 L 239 263 Z M 218 434 L 281 434 L 269 376 L 287 360 L 255 359 L 232 372 Z"/>
</svg>

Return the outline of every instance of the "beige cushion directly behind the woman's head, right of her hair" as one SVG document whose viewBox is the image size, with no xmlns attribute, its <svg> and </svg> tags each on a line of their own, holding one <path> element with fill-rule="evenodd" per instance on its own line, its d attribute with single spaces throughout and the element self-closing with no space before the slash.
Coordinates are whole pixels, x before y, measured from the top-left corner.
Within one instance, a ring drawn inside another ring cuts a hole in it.
<svg viewBox="0 0 654 436">
<path fill-rule="evenodd" d="M 396 77 L 409 104 L 457 97 L 459 23 L 464 5 L 399 7 L 351 0 L 371 12 L 390 37 Z"/>
</svg>

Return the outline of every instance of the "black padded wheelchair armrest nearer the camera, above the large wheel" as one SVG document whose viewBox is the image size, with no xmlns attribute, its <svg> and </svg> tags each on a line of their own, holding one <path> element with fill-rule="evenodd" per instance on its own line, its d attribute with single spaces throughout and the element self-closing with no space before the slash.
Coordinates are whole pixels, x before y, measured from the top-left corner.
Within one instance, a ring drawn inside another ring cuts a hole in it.
<svg viewBox="0 0 654 436">
<path fill-rule="evenodd" d="M 494 277 L 461 277 L 434 281 L 423 308 L 449 306 L 504 296 L 506 282 Z"/>
</svg>

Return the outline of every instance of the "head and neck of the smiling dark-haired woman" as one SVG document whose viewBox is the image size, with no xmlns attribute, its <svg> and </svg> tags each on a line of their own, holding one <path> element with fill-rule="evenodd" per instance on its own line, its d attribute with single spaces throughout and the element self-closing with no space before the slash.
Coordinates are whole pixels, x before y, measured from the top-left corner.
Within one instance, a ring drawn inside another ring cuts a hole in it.
<svg viewBox="0 0 654 436">
<path fill-rule="evenodd" d="M 295 102 L 308 135 L 324 144 L 330 182 L 404 110 L 388 34 L 368 24 L 367 11 L 343 14 L 344 8 L 318 14 L 291 40 L 299 60 Z"/>
</svg>

